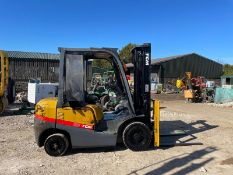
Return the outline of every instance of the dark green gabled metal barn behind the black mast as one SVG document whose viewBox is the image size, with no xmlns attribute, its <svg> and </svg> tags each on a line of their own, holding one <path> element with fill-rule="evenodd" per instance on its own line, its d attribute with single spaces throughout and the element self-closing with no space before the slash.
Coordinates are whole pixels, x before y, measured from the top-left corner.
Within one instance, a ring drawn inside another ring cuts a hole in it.
<svg viewBox="0 0 233 175">
<path fill-rule="evenodd" d="M 133 65 L 129 63 L 127 67 L 132 73 Z M 206 79 L 220 82 L 223 65 L 196 53 L 152 59 L 151 61 L 151 78 L 162 84 L 184 77 L 185 72 L 191 72 L 192 76 L 203 76 Z"/>
</svg>

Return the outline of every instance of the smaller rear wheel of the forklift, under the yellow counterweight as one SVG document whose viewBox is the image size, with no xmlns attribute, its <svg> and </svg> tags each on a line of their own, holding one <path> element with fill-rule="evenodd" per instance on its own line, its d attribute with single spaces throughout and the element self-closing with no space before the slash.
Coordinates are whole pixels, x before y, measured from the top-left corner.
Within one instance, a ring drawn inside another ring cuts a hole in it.
<svg viewBox="0 0 233 175">
<path fill-rule="evenodd" d="M 56 133 L 50 135 L 44 143 L 44 149 L 50 156 L 62 156 L 69 147 L 69 141 L 64 134 Z"/>
</svg>

